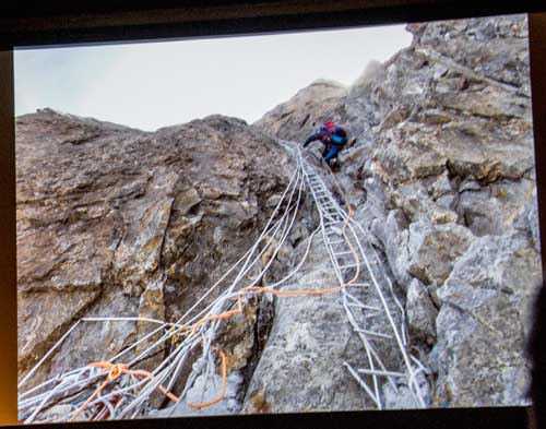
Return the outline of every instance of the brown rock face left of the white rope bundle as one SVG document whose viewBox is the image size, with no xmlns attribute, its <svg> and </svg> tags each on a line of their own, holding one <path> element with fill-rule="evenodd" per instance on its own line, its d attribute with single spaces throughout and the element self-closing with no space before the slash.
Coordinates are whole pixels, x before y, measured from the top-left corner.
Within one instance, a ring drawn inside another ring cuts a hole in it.
<svg viewBox="0 0 546 429">
<path fill-rule="evenodd" d="M 180 317 L 253 241 L 290 164 L 224 117 L 145 133 L 45 109 L 16 131 L 21 376 L 81 317 Z M 82 322 L 35 382 L 149 329 Z"/>
</svg>

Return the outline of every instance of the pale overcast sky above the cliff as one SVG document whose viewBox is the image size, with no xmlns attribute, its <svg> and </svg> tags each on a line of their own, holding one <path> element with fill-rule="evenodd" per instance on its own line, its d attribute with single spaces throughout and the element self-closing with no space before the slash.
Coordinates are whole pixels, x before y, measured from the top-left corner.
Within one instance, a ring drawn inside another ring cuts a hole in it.
<svg viewBox="0 0 546 429">
<path fill-rule="evenodd" d="M 317 79 L 351 85 L 411 39 L 391 25 L 16 49 L 15 115 L 50 107 L 145 131 L 214 114 L 252 123 Z"/>
</svg>

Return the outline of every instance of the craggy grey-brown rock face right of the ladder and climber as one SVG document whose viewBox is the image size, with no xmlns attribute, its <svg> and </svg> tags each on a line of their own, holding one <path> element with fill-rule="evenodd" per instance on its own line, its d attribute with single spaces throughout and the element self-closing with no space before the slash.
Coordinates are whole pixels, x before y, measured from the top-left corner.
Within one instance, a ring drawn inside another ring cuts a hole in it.
<svg viewBox="0 0 546 429">
<path fill-rule="evenodd" d="M 542 281 L 525 16 L 412 24 L 329 118 L 357 143 L 337 174 L 406 295 L 411 342 L 438 378 L 432 406 L 525 402 L 529 305 Z M 310 128 L 256 123 L 301 142 Z M 289 115 L 288 115 L 289 114 Z M 311 146 L 313 147 L 313 146 Z"/>
</svg>

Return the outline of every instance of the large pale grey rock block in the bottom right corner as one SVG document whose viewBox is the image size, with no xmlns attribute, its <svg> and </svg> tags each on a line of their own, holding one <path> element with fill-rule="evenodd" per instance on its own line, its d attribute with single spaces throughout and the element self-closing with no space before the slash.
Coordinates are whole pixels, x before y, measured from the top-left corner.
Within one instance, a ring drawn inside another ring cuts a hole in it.
<svg viewBox="0 0 546 429">
<path fill-rule="evenodd" d="M 541 281 L 539 254 L 521 233 L 483 237 L 458 260 L 438 290 L 438 405 L 526 403 L 522 350 Z"/>
</svg>

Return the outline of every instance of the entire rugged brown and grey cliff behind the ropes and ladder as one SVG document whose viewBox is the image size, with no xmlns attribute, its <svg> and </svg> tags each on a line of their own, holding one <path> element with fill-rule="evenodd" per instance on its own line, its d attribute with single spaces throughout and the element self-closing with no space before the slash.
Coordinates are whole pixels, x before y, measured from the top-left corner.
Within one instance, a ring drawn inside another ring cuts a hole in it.
<svg viewBox="0 0 546 429">
<path fill-rule="evenodd" d="M 278 140 L 301 142 L 332 119 L 357 139 L 341 155 L 340 203 L 354 207 L 392 279 L 410 348 L 428 368 L 427 405 L 522 404 L 541 281 L 526 21 L 407 29 L 412 46 L 368 64 L 351 87 L 316 81 L 253 126 L 213 116 L 149 133 L 50 109 L 17 118 L 20 376 L 81 318 L 177 320 L 273 213 L 295 167 Z M 290 287 L 335 284 L 310 237 L 317 213 L 302 204 L 263 285 L 306 252 Z M 262 299 L 247 310 L 222 327 L 230 353 L 222 404 L 151 415 L 373 407 L 343 367 L 363 349 L 339 299 Z M 32 384 L 149 331 L 82 322 Z"/>
</svg>

